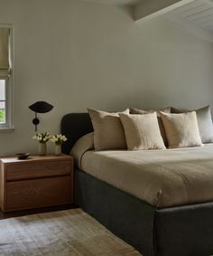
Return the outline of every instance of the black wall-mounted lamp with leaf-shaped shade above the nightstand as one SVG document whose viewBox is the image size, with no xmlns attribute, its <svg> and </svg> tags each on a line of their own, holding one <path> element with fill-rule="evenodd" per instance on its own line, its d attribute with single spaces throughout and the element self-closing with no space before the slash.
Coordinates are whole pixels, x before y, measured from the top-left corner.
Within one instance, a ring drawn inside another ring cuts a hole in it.
<svg viewBox="0 0 213 256">
<path fill-rule="evenodd" d="M 36 101 L 31 106 L 29 106 L 33 112 L 35 112 L 35 118 L 32 119 L 32 124 L 35 126 L 35 131 L 37 131 L 37 126 L 40 123 L 40 120 L 37 118 L 37 113 L 47 113 L 53 109 L 53 106 L 45 101 Z"/>
</svg>

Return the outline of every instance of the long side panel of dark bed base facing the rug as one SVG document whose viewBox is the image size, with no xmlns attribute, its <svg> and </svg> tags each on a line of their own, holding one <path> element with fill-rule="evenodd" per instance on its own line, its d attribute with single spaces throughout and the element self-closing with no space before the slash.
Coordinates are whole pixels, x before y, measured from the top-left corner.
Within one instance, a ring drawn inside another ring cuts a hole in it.
<svg viewBox="0 0 213 256">
<path fill-rule="evenodd" d="M 75 188 L 75 204 L 144 255 L 153 255 L 152 206 L 79 170 Z"/>
</svg>

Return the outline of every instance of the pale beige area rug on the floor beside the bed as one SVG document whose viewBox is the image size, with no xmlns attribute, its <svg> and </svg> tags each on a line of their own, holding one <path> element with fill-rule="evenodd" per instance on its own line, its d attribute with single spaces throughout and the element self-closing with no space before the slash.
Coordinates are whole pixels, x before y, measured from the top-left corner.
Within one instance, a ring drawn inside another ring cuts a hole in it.
<svg viewBox="0 0 213 256">
<path fill-rule="evenodd" d="M 1 256 L 139 256 L 81 209 L 0 221 Z"/>
</svg>

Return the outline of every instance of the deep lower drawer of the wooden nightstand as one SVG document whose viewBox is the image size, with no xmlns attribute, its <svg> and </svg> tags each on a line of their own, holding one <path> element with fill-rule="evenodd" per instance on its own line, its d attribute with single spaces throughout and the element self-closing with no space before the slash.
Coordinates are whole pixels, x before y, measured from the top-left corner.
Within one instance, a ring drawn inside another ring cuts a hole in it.
<svg viewBox="0 0 213 256">
<path fill-rule="evenodd" d="M 72 203 L 70 176 L 8 182 L 6 211 Z"/>
</svg>

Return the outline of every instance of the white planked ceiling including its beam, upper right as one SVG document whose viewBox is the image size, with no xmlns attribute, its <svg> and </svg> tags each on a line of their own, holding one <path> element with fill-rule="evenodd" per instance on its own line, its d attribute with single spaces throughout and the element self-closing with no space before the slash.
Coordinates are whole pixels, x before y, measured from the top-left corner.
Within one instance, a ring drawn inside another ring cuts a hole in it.
<svg viewBox="0 0 213 256">
<path fill-rule="evenodd" d="M 213 42 L 213 0 L 83 0 L 107 5 L 133 5 L 135 21 L 162 15 Z M 162 1 L 159 5 L 158 1 Z M 163 3 L 174 3 L 164 5 Z M 176 5 L 175 5 L 176 4 Z M 158 8 L 159 6 L 160 8 Z M 147 14 L 143 14 L 145 9 Z M 143 15 L 140 15 L 143 14 Z"/>
</svg>

